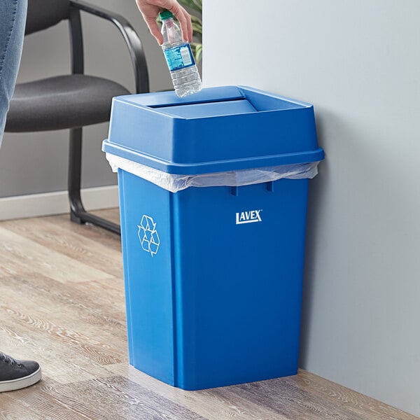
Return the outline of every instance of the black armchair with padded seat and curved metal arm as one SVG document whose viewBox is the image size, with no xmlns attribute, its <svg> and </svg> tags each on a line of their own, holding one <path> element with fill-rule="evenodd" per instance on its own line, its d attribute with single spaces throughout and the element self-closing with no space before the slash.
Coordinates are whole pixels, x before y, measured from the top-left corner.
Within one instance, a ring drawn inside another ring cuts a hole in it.
<svg viewBox="0 0 420 420">
<path fill-rule="evenodd" d="M 130 92 L 112 80 L 83 74 L 80 10 L 109 20 L 118 27 L 130 51 L 136 92 L 149 91 L 144 50 L 139 36 L 125 18 L 84 1 L 29 0 L 25 34 L 69 20 L 71 74 L 16 85 L 6 120 L 6 132 L 70 129 L 68 190 L 71 221 L 93 223 L 120 233 L 120 226 L 116 223 L 85 211 L 80 199 L 82 127 L 108 121 L 112 97 Z"/>
</svg>

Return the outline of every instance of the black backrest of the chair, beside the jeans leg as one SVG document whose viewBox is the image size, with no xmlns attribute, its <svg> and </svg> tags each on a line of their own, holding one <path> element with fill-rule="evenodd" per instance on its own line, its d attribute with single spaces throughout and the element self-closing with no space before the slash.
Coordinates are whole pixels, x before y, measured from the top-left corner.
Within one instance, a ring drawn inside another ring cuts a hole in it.
<svg viewBox="0 0 420 420">
<path fill-rule="evenodd" d="M 69 0 L 28 0 L 25 35 L 47 29 L 69 17 Z"/>
</svg>

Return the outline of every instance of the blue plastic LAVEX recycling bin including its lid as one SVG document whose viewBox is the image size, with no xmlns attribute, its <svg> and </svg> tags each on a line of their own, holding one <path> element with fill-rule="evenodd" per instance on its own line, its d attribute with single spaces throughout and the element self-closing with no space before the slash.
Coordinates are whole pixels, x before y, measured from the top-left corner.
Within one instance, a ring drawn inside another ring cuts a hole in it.
<svg viewBox="0 0 420 420">
<path fill-rule="evenodd" d="M 235 179 L 323 160 L 313 106 L 237 86 L 116 97 L 103 150 L 127 164 L 130 364 L 188 390 L 295 374 L 308 179 Z M 172 192 L 130 164 L 209 186 Z"/>
</svg>

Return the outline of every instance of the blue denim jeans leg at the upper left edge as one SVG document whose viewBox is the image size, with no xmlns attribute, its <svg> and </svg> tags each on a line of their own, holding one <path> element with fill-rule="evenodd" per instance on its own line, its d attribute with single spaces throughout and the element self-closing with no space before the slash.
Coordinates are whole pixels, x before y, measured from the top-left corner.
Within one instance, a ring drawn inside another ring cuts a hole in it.
<svg viewBox="0 0 420 420">
<path fill-rule="evenodd" d="M 0 0 L 0 146 L 22 55 L 27 0 Z"/>
</svg>

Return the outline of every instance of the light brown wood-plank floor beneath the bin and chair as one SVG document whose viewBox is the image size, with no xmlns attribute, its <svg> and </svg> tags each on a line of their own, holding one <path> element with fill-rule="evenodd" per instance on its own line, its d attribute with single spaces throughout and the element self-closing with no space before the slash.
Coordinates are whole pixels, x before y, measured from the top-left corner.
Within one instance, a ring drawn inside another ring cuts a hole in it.
<svg viewBox="0 0 420 420">
<path fill-rule="evenodd" d="M 0 350 L 43 369 L 0 394 L 0 419 L 416 419 L 303 370 L 207 391 L 134 370 L 120 252 L 117 235 L 66 215 L 0 223 Z"/>
</svg>

